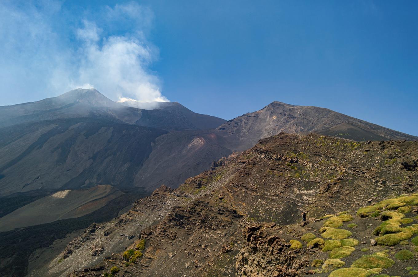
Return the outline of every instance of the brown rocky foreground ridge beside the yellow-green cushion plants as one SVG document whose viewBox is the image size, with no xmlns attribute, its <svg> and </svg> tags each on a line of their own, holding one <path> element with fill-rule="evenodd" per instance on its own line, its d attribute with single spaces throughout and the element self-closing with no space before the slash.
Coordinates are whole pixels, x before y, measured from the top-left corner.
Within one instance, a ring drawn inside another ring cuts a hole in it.
<svg viewBox="0 0 418 277">
<path fill-rule="evenodd" d="M 296 225 L 302 211 L 314 222 L 415 192 L 418 182 L 418 142 L 409 141 L 280 133 L 224 162 L 90 227 L 29 276 L 249 276 L 269 264 L 275 271 L 266 276 L 298 276 L 325 255 L 318 248 L 289 249 L 289 239 L 323 224 Z"/>
</svg>

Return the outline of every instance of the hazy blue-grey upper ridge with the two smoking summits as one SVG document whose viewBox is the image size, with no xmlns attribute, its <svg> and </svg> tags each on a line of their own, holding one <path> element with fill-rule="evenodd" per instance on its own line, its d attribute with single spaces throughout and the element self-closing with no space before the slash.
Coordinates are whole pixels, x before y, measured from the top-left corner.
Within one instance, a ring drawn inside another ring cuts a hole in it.
<svg viewBox="0 0 418 277">
<path fill-rule="evenodd" d="M 152 104 L 155 105 L 152 105 Z M 153 102 L 144 110 L 116 103 L 95 89 L 78 88 L 60 96 L 12 106 L 0 106 L 0 127 L 61 118 L 99 117 L 140 126 L 168 130 L 215 128 L 225 120 L 194 113 L 177 102 Z"/>
</svg>

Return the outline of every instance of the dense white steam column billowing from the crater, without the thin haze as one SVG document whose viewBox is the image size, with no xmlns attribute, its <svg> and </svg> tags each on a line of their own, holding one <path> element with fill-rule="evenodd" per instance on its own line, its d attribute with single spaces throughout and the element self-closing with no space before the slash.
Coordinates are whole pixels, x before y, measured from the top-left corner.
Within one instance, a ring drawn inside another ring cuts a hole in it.
<svg viewBox="0 0 418 277">
<path fill-rule="evenodd" d="M 161 95 L 158 77 L 147 71 L 157 53 L 144 40 L 127 36 L 101 39 L 99 29 L 89 21 L 77 30 L 77 38 L 83 45 L 76 82 L 91 84 L 119 100 L 168 101 Z"/>
</svg>

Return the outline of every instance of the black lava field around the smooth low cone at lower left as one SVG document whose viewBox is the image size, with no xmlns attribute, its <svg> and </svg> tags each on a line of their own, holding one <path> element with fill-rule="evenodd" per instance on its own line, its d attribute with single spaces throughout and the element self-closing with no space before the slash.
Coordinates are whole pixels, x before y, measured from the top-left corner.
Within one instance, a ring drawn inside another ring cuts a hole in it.
<svg viewBox="0 0 418 277">
<path fill-rule="evenodd" d="M 112 189 L 114 190 L 114 189 Z M 116 194 L 120 194 L 117 190 L 114 190 Z M 127 192 L 127 191 L 125 191 Z M 59 192 L 61 193 L 61 191 Z M 53 194 L 53 193 L 50 193 Z M 69 195 L 69 194 L 67 194 Z M 110 194 L 112 197 L 114 194 Z M 130 191 L 129 193 L 122 194 L 121 196 L 115 199 L 109 199 L 107 197 L 94 200 L 87 205 L 82 205 L 84 209 L 94 210 L 89 214 L 86 214 L 81 217 L 73 217 L 67 219 L 60 219 L 50 223 L 38 224 L 33 226 L 28 226 L 24 228 L 18 228 L 11 231 L 1 232 L 0 233 L 0 272 L 2 276 L 26 276 L 28 272 L 28 264 L 30 260 L 36 259 L 39 261 L 38 257 L 42 259 L 50 259 L 51 256 L 55 256 L 62 251 L 60 248 L 61 245 L 65 245 L 70 242 L 74 237 L 79 235 L 79 230 L 89 227 L 92 222 L 108 222 L 114 217 L 117 217 L 120 214 L 122 209 L 125 209 L 127 205 L 130 205 L 135 201 L 144 197 L 143 192 Z M 69 195 L 72 196 L 72 195 Z M 84 195 L 87 196 L 87 195 Z M 86 199 L 82 196 L 82 199 Z M 24 199 L 20 195 L 14 196 L 13 199 Z M 88 196 L 87 196 L 88 197 Z M 81 200 L 82 200 L 81 199 Z M 2 205 L 8 203 L 8 197 L 2 198 Z M 65 200 L 70 200 L 64 198 L 63 209 L 54 209 L 54 214 L 68 214 L 68 210 L 72 203 Z M 108 201 L 110 200 L 110 201 Z M 77 200 L 78 201 L 78 200 Z M 103 201 L 107 203 L 99 209 L 96 209 L 98 206 L 103 204 Z M 49 204 L 49 201 L 43 202 L 43 204 Z M 79 202 L 80 203 L 80 202 Z M 52 209 L 52 207 L 44 206 L 37 207 L 38 209 Z M 61 207 L 60 207 L 61 208 Z M 32 212 L 30 209 L 28 212 Z M 75 214 L 83 211 L 74 211 Z M 71 212 L 70 212 L 71 213 Z M 74 214 L 73 214 L 74 215 Z M 26 216 L 26 214 L 23 214 Z M 48 217 L 48 214 L 42 215 L 43 218 L 51 219 Z M 56 254 L 54 254 L 56 253 Z M 36 266 L 37 267 L 37 266 Z M 42 275 L 38 275 L 42 276 Z"/>
</svg>

